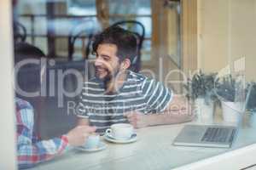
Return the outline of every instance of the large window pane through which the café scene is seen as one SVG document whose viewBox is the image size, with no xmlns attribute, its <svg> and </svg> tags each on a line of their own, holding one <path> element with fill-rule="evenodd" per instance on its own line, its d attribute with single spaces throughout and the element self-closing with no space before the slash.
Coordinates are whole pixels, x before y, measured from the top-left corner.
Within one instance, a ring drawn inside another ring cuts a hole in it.
<svg viewBox="0 0 256 170">
<path fill-rule="evenodd" d="M 169 169 L 254 144 L 255 3 L 195 2 L 14 0 L 15 97 L 25 108 L 16 112 L 25 117 L 15 124 L 20 164 Z M 137 43 L 124 41 L 114 25 Z M 114 133 L 117 122 L 133 126 L 123 127 L 127 136 Z M 214 127 L 199 139 L 206 145 L 175 145 L 190 124 L 239 130 Z M 85 145 L 84 132 L 94 147 Z M 229 147 L 207 145 L 231 139 Z"/>
</svg>

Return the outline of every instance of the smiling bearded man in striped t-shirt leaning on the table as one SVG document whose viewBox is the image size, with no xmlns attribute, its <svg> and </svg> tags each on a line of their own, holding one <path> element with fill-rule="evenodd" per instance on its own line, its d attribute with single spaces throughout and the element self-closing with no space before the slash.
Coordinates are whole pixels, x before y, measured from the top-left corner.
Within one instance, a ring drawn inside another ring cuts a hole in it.
<svg viewBox="0 0 256 170">
<path fill-rule="evenodd" d="M 84 82 L 80 95 L 79 125 L 93 125 L 98 133 L 114 123 L 134 127 L 189 122 L 189 103 L 160 82 L 130 71 L 137 55 L 134 33 L 111 26 L 93 42 L 96 77 Z"/>
</svg>

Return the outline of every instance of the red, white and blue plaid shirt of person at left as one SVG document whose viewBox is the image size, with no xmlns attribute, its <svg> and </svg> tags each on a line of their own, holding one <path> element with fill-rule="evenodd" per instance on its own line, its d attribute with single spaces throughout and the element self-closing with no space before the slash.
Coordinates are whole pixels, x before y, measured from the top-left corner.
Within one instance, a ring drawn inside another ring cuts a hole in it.
<svg viewBox="0 0 256 170">
<path fill-rule="evenodd" d="M 68 141 L 65 135 L 61 138 L 37 140 L 33 133 L 33 109 L 24 100 L 16 100 L 16 122 L 19 168 L 32 167 L 67 150 Z"/>
</svg>

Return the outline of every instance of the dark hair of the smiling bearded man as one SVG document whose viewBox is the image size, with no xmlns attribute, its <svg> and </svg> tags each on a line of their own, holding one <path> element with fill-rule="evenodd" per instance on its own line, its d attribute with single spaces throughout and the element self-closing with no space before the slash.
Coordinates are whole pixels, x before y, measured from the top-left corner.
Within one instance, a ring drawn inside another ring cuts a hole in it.
<svg viewBox="0 0 256 170">
<path fill-rule="evenodd" d="M 119 57 L 119 61 L 130 59 L 132 63 L 137 55 L 137 38 L 134 33 L 119 26 L 110 26 L 96 35 L 92 43 L 92 53 L 96 54 L 98 46 L 103 43 L 112 43 L 117 46 L 116 55 Z"/>
</svg>

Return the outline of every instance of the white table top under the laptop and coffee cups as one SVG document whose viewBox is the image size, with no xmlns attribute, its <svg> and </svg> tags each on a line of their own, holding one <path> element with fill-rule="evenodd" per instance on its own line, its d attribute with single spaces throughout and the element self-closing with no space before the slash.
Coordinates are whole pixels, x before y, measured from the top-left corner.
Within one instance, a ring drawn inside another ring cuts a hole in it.
<svg viewBox="0 0 256 170">
<path fill-rule="evenodd" d="M 241 127 L 231 149 L 173 146 L 172 141 L 184 124 L 138 129 L 135 143 L 112 144 L 104 141 L 108 144 L 107 149 L 91 153 L 69 150 L 32 170 L 171 169 L 256 143 L 256 135 L 252 135 L 254 129 L 245 125 Z"/>
</svg>

